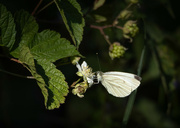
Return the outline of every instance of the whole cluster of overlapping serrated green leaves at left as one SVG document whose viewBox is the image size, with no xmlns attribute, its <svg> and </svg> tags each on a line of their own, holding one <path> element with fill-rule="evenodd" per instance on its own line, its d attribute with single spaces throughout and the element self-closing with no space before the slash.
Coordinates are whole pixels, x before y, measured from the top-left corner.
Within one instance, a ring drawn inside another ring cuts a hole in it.
<svg viewBox="0 0 180 128">
<path fill-rule="evenodd" d="M 38 24 L 28 12 L 17 12 L 14 22 L 11 13 L 3 5 L 0 7 L 1 45 L 9 51 L 13 47 L 11 55 L 31 72 L 42 91 L 46 108 L 59 108 L 65 101 L 69 87 L 62 72 L 52 62 L 78 56 L 79 52 L 55 31 L 38 33 Z M 16 33 L 18 36 L 15 40 Z"/>
</svg>

